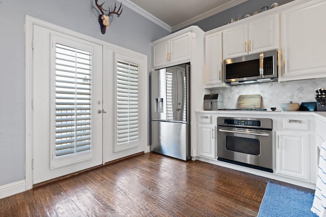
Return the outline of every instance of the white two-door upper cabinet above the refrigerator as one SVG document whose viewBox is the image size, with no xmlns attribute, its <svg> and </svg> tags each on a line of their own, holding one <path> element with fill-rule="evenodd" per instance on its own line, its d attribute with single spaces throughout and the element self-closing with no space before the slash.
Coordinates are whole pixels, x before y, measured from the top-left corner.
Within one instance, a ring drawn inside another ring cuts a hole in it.
<svg viewBox="0 0 326 217">
<path fill-rule="evenodd" d="M 163 67 L 191 59 L 191 33 L 153 44 L 153 68 Z"/>
</svg>

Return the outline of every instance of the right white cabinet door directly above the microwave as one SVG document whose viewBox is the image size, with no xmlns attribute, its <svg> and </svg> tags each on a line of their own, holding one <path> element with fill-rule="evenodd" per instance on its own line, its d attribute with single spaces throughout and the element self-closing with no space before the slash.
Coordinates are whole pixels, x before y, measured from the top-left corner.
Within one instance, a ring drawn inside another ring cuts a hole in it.
<svg viewBox="0 0 326 217">
<path fill-rule="evenodd" d="M 279 15 L 248 24 L 249 54 L 279 48 Z"/>
</svg>

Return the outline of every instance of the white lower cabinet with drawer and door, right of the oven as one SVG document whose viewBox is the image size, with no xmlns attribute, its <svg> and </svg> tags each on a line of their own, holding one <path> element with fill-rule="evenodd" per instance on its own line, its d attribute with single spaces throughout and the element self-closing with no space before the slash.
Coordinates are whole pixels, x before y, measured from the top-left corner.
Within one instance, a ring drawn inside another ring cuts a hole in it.
<svg viewBox="0 0 326 217">
<path fill-rule="evenodd" d="M 316 118 L 286 112 L 273 118 L 275 173 L 316 183 Z"/>
</svg>

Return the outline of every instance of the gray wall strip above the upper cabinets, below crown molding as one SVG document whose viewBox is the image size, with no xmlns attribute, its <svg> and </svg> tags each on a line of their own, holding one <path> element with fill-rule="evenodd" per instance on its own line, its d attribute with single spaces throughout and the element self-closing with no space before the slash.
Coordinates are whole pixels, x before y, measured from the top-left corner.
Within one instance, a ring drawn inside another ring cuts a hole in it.
<svg viewBox="0 0 326 217">
<path fill-rule="evenodd" d="M 200 20 L 192 25 L 197 25 L 203 29 L 204 32 L 207 32 L 208 30 L 228 24 L 231 22 L 231 18 L 237 18 L 238 14 L 241 14 L 242 17 L 244 17 L 246 14 L 253 15 L 255 11 L 261 12 L 261 8 L 264 6 L 268 6 L 270 9 L 271 4 L 275 2 L 278 2 L 281 6 L 292 1 L 293 0 L 248 0 L 247 2 L 241 3 L 240 5 L 215 14 L 206 19 Z"/>
</svg>

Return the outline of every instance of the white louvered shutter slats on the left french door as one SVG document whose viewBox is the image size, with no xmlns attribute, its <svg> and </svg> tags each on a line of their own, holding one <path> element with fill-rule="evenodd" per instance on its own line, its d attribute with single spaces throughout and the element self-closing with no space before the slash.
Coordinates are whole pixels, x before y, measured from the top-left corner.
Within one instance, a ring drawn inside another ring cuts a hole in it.
<svg viewBox="0 0 326 217">
<path fill-rule="evenodd" d="M 56 43 L 56 158 L 90 151 L 92 56 Z"/>
</svg>

